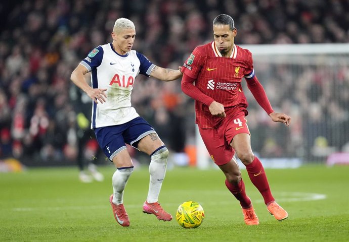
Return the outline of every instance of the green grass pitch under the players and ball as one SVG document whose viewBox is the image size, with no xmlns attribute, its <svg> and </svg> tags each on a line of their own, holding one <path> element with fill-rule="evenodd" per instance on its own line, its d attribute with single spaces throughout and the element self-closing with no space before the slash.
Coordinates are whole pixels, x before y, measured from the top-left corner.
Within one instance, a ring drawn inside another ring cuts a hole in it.
<svg viewBox="0 0 349 242">
<path fill-rule="evenodd" d="M 267 169 L 273 195 L 289 213 L 282 222 L 267 212 L 243 170 L 258 226 L 244 225 L 220 170 L 168 170 L 159 202 L 173 217 L 182 202 L 200 203 L 205 219 L 195 229 L 142 213 L 147 167 L 135 169 L 128 181 L 130 226 L 121 227 L 109 204 L 114 168 L 101 170 L 105 181 L 92 184 L 80 183 L 75 167 L 0 173 L 0 241 L 349 241 L 349 166 Z"/>
</svg>

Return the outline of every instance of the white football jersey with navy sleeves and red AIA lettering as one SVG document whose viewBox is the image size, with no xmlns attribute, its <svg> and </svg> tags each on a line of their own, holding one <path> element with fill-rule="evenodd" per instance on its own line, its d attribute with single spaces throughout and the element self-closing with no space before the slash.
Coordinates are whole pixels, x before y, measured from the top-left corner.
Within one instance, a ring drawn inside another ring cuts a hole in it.
<svg viewBox="0 0 349 242">
<path fill-rule="evenodd" d="M 105 88 L 105 103 L 92 106 L 91 128 L 124 124 L 139 116 L 131 105 L 131 92 L 139 73 L 149 77 L 155 67 L 143 54 L 115 52 L 111 43 L 93 49 L 80 63 L 91 72 L 93 88 Z"/>
</svg>

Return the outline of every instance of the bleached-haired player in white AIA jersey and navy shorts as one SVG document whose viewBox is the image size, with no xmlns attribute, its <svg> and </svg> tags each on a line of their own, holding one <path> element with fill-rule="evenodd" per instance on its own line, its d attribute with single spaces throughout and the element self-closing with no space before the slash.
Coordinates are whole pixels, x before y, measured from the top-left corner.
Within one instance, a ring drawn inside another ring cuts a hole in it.
<svg viewBox="0 0 349 242">
<path fill-rule="evenodd" d="M 72 82 L 94 101 L 91 128 L 95 131 L 99 146 L 117 168 L 112 177 L 113 194 L 109 201 L 114 217 L 121 226 L 129 226 L 123 206 L 123 192 L 134 169 L 125 144 L 151 156 L 149 191 L 143 212 L 154 214 L 159 220 L 172 219 L 158 203 L 168 150 L 155 130 L 132 107 L 130 95 L 139 73 L 162 81 L 179 79 L 182 73 L 180 70 L 157 67 L 143 54 L 132 50 L 135 36 L 132 21 L 117 19 L 111 33 L 113 42 L 93 49 L 71 74 Z M 92 87 L 84 79 L 89 72 Z"/>
</svg>

